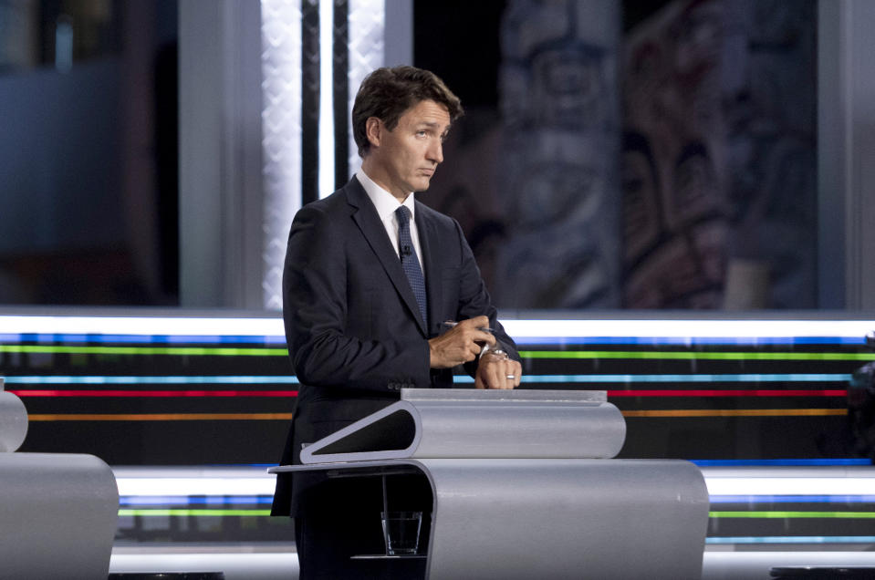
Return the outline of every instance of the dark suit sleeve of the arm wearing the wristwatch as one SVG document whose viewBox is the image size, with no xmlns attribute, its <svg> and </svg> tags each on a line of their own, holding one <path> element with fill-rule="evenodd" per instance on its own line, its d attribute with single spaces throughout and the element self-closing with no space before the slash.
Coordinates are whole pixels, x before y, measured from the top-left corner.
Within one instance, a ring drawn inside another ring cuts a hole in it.
<svg viewBox="0 0 875 580">
<path fill-rule="evenodd" d="M 474 260 L 474 253 L 471 247 L 464 238 L 462 226 L 453 221 L 456 228 L 460 244 L 460 253 L 462 255 L 462 268 L 459 288 L 459 313 L 457 320 L 465 318 L 473 318 L 474 316 L 485 315 L 489 318 L 489 327 L 495 332 L 495 339 L 498 341 L 498 347 L 502 348 L 509 357 L 519 360 L 519 354 L 516 351 L 516 342 L 514 339 L 507 336 L 505 327 L 498 322 L 498 310 L 493 306 L 492 299 L 486 291 L 483 277 L 480 274 L 480 268 Z M 464 365 L 465 370 L 471 376 L 477 370 L 477 360 Z"/>
</svg>

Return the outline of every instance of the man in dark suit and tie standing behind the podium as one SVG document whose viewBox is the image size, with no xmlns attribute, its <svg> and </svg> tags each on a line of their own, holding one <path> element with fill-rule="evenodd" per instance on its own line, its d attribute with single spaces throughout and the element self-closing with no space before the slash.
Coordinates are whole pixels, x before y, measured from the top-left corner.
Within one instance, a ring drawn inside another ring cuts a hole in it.
<svg viewBox="0 0 875 580">
<path fill-rule="evenodd" d="M 380 68 L 352 111 L 361 170 L 292 223 L 283 276 L 289 355 L 300 379 L 282 463 L 399 399 L 401 388 L 447 388 L 464 365 L 476 388 L 515 388 L 522 368 L 496 319 L 459 224 L 415 202 L 443 161 L 462 115 L 431 72 Z M 457 321 L 446 330 L 445 321 Z M 274 514 L 296 518 L 301 578 L 393 575 L 349 562 L 380 551 L 379 513 L 360 513 L 363 484 L 277 478 Z M 379 512 L 379 508 L 378 508 Z M 365 527 L 352 523 L 369 520 Z M 378 544 L 372 544 L 376 541 Z M 369 544 L 371 543 L 371 544 Z"/>
</svg>

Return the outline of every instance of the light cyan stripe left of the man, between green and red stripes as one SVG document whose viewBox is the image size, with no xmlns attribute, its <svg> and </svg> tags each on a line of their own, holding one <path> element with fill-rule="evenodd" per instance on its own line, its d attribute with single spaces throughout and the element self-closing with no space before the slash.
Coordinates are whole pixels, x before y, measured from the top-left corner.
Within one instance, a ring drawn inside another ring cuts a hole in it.
<svg viewBox="0 0 875 580">
<path fill-rule="evenodd" d="M 7 385 L 297 385 L 297 377 L 289 375 L 223 375 L 211 377 L 187 376 L 43 376 L 20 375 L 5 377 Z"/>
</svg>

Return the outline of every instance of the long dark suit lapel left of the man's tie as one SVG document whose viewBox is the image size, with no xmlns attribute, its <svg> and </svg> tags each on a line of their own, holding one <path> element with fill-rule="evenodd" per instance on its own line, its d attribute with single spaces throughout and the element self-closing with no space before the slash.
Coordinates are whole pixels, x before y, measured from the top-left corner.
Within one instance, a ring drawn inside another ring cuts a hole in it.
<svg viewBox="0 0 875 580">
<path fill-rule="evenodd" d="M 428 337 L 427 329 L 421 320 L 422 316 L 419 315 L 416 296 L 413 295 L 411 284 L 407 280 L 407 274 L 404 274 L 401 260 L 398 259 L 398 254 L 395 254 L 389 237 L 386 235 L 386 228 L 383 227 L 383 224 L 380 222 L 380 216 L 377 215 L 377 210 L 374 208 L 373 203 L 370 202 L 368 194 L 361 187 L 359 180 L 353 178 L 347 183 L 345 189 L 347 191 L 347 202 L 356 208 L 356 211 L 352 213 L 353 221 L 359 226 L 359 230 L 368 241 L 370 249 L 377 255 L 377 259 L 380 260 L 380 264 L 386 271 L 386 274 L 389 275 L 392 285 L 395 286 L 398 294 L 401 295 L 401 299 L 410 311 L 411 317 L 416 321 L 416 325 L 419 326 L 422 335 Z M 416 224 L 419 227 L 418 219 Z M 422 236 L 420 237 L 422 238 Z M 429 302 L 431 303 L 431 300 Z"/>
</svg>

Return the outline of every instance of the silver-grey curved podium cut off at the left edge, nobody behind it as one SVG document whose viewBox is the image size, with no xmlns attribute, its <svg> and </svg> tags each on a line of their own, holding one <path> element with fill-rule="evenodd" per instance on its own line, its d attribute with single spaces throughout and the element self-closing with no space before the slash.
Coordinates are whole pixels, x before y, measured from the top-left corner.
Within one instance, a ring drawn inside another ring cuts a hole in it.
<svg viewBox="0 0 875 580">
<path fill-rule="evenodd" d="M 27 411 L 3 383 L 0 578 L 106 578 L 119 519 L 112 470 L 93 455 L 14 452 L 26 437 Z"/>
</svg>

